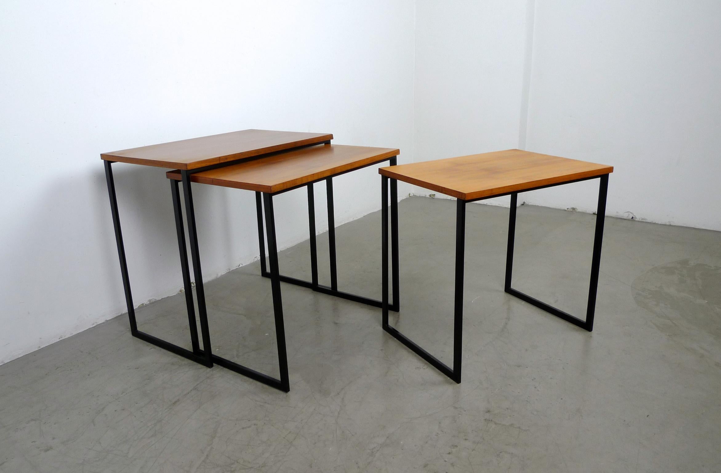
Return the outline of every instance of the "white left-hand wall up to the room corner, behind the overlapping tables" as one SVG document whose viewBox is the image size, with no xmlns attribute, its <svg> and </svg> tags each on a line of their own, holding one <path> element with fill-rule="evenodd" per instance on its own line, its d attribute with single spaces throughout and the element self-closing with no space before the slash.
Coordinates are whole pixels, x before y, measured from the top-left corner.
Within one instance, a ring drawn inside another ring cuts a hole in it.
<svg viewBox="0 0 721 473">
<path fill-rule="evenodd" d="M 125 311 L 103 151 L 268 128 L 412 161 L 414 27 L 412 0 L 1 2 L 0 363 Z M 134 301 L 175 293 L 164 171 L 114 169 Z M 337 224 L 377 185 L 340 177 Z M 257 258 L 253 193 L 194 194 L 205 278 Z M 280 247 L 307 238 L 303 191 L 276 214 Z"/>
</svg>

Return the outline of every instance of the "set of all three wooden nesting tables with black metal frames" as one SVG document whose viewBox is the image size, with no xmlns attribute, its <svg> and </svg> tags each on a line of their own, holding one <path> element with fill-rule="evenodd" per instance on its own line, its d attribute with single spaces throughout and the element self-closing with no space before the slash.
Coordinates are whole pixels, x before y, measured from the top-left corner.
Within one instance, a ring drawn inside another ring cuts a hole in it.
<svg viewBox="0 0 721 473">
<path fill-rule="evenodd" d="M 475 154 L 472 156 L 461 156 L 459 158 L 397 165 L 398 149 L 336 145 L 330 143 L 332 138 L 332 134 L 328 133 L 244 130 L 101 154 L 101 158 L 105 163 L 107 189 L 110 195 L 110 209 L 113 226 L 115 227 L 115 239 L 118 245 L 118 257 L 120 259 L 120 273 L 123 278 L 125 303 L 128 307 L 131 334 L 141 340 L 150 342 L 177 355 L 184 356 L 204 366 L 212 367 L 213 364 L 224 366 L 244 376 L 273 386 L 281 391 L 288 392 L 290 390 L 290 382 L 288 378 L 288 358 L 286 354 L 286 335 L 283 324 L 283 302 L 280 293 L 280 283 L 291 283 L 304 286 L 319 293 L 379 307 L 381 309 L 382 327 L 386 332 L 397 338 L 397 340 L 420 355 L 432 366 L 438 368 L 438 370 L 446 374 L 446 376 L 460 383 L 466 203 L 497 197 L 499 195 L 511 196 L 505 291 L 557 317 L 561 317 L 572 324 L 576 324 L 585 330 L 593 330 L 593 314 L 596 306 L 596 288 L 598 286 L 601 241 L 603 238 L 603 216 L 606 208 L 606 190 L 608 187 L 609 173 L 613 171 L 613 167 L 520 150 L 497 151 L 495 153 Z M 379 169 L 379 173 L 381 174 L 382 202 L 382 264 L 379 270 L 381 271 L 382 296 L 381 301 L 377 301 L 365 296 L 340 291 L 337 287 L 332 179 L 340 174 L 386 161 L 388 161 L 390 165 Z M 167 177 L 171 185 L 192 350 L 187 350 L 186 348 L 138 330 L 131 285 L 128 277 L 128 266 L 125 260 L 123 234 L 120 229 L 118 202 L 115 196 L 115 182 L 112 175 L 112 163 L 114 162 L 172 169 L 167 172 Z M 596 234 L 593 242 L 588 309 L 585 320 L 582 320 L 510 287 L 511 270 L 513 267 L 513 236 L 516 226 L 516 200 L 519 192 L 594 178 L 599 178 L 601 184 L 598 194 Z M 402 335 L 402 333 L 398 332 L 394 327 L 391 327 L 388 322 L 389 311 L 400 310 L 397 207 L 398 180 L 410 182 L 411 184 L 419 185 L 434 190 L 435 192 L 445 193 L 457 199 L 454 363 L 452 368 L 446 366 L 446 364 L 439 361 L 423 348 L 420 348 L 415 342 L 412 342 L 412 340 Z M 326 183 L 327 188 L 330 286 L 324 286 L 318 282 L 313 185 L 321 181 Z M 193 262 L 195 293 L 198 299 L 198 319 L 200 320 L 200 338 L 203 340 L 203 348 L 200 348 L 198 327 L 195 319 L 192 283 L 185 244 L 185 225 L 183 223 L 180 202 L 180 182 L 182 182 L 182 198 L 185 200 L 185 210 L 187 212 L 190 257 Z M 218 185 L 221 187 L 234 187 L 255 192 L 261 274 L 270 278 L 271 281 L 275 335 L 278 341 L 280 379 L 275 379 L 265 373 L 260 373 L 242 364 L 222 358 L 212 352 L 211 337 L 208 329 L 208 314 L 205 306 L 205 293 L 203 291 L 203 275 L 200 269 L 198 229 L 195 224 L 191 182 L 205 185 Z M 275 235 L 273 196 L 301 187 L 306 187 L 308 193 L 309 239 L 311 247 L 310 281 L 281 275 L 280 269 L 278 268 L 278 247 Z M 389 301 L 389 197 L 390 246 L 392 247 L 392 302 Z M 264 210 L 265 230 L 263 229 Z M 265 260 L 266 237 L 268 247 L 267 265 Z"/>
</svg>

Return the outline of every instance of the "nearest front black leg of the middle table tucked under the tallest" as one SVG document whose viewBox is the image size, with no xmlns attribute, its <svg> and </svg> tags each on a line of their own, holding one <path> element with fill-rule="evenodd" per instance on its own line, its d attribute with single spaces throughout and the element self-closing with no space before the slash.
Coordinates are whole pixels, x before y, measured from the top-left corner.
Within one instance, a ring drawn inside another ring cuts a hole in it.
<svg viewBox="0 0 721 473">
<path fill-rule="evenodd" d="M 265 226 L 268 234 L 268 257 L 270 259 L 270 284 L 273 291 L 273 313 L 275 314 L 275 337 L 278 340 L 278 363 L 280 364 L 280 388 L 290 391 L 288 380 L 288 355 L 286 353 L 286 329 L 283 324 L 283 301 L 280 297 L 280 271 L 278 270 L 278 245 L 275 241 L 275 216 L 273 195 L 263 194 L 265 201 Z"/>
</svg>

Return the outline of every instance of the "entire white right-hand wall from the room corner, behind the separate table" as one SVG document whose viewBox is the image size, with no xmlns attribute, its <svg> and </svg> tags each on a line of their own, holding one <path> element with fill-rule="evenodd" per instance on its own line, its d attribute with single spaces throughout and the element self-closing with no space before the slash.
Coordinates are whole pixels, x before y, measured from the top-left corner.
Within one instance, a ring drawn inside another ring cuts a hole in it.
<svg viewBox="0 0 721 473">
<path fill-rule="evenodd" d="M 609 215 L 721 230 L 720 1 L 418 0 L 416 16 L 415 159 L 612 164 Z M 593 181 L 519 201 L 597 198 Z"/>
</svg>

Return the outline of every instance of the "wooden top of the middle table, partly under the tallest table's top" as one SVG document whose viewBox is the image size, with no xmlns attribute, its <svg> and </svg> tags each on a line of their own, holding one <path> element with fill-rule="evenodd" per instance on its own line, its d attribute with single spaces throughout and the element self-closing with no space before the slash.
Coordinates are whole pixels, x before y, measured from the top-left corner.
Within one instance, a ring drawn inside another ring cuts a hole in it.
<svg viewBox="0 0 721 473">
<path fill-rule="evenodd" d="M 277 193 L 297 185 L 359 169 L 400 154 L 398 149 L 323 144 L 190 174 L 191 182 Z M 166 173 L 180 180 L 180 171 Z"/>
</svg>

